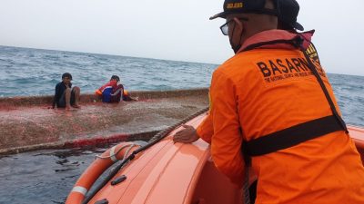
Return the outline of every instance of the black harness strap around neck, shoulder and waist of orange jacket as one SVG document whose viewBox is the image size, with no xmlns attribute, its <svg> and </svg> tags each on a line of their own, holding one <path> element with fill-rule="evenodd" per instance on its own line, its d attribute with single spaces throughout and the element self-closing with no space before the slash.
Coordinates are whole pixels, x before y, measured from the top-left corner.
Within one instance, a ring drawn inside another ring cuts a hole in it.
<svg viewBox="0 0 364 204">
<path fill-rule="evenodd" d="M 305 55 L 305 58 L 308 62 L 309 69 L 315 75 L 322 91 L 325 94 L 327 101 L 329 102 L 329 106 L 333 115 L 324 118 L 319 118 L 313 121 L 300 123 L 298 125 L 289 127 L 282 131 L 276 131 L 271 134 L 259 137 L 258 139 L 252 141 L 244 141 L 242 145 L 243 149 L 242 151 L 246 156 L 247 155 L 259 156 L 274 151 L 284 150 L 289 147 L 298 145 L 303 141 L 308 141 L 334 131 L 346 131 L 348 133 L 348 128 L 345 124 L 345 121 L 342 120 L 342 118 L 339 115 L 339 112 L 336 110 L 334 102 L 332 102 L 328 89 L 326 88 L 324 82 L 319 76 L 319 72 L 316 69 L 315 64 L 312 63 L 308 54 L 302 47 L 303 39 L 300 36 L 288 41 L 277 40 L 271 42 L 251 44 L 250 46 L 246 47 L 242 52 L 253 50 L 267 44 L 282 44 L 282 43 L 291 44 L 295 47 L 300 47 L 302 53 Z"/>
</svg>

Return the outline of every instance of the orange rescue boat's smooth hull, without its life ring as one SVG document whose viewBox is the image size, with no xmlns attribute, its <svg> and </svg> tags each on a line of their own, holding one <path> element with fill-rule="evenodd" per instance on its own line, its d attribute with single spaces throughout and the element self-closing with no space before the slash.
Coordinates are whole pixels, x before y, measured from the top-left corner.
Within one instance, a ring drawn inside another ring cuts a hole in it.
<svg viewBox="0 0 364 204">
<path fill-rule="evenodd" d="M 206 114 L 199 115 L 187 124 L 197 127 L 204 117 Z M 114 177 L 125 175 L 126 180 L 114 186 L 108 182 L 88 203 L 102 199 L 118 204 L 242 203 L 241 190 L 234 188 L 215 168 L 209 145 L 202 140 L 193 145 L 174 143 L 171 137 L 176 131 L 144 151 Z M 364 129 L 349 127 L 349 131 L 363 160 Z"/>
</svg>

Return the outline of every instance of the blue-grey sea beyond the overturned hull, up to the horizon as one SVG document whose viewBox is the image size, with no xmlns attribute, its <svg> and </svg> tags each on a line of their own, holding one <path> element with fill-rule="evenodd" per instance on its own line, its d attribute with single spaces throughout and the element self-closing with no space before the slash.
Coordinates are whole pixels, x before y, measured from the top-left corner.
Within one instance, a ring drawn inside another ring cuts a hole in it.
<svg viewBox="0 0 364 204">
<path fill-rule="evenodd" d="M 96 53 L 0 46 L 0 97 L 51 95 L 62 73 L 82 92 L 95 92 L 111 75 L 126 90 L 208 87 L 217 64 L 188 63 Z M 347 123 L 364 126 L 364 76 L 328 74 Z"/>
</svg>

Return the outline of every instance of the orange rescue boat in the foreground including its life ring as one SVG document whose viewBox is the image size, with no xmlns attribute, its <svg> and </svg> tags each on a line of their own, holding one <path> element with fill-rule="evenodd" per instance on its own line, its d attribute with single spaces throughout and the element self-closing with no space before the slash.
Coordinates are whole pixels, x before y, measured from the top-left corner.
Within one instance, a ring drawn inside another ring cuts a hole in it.
<svg viewBox="0 0 364 204">
<path fill-rule="evenodd" d="M 204 117 L 206 113 L 199 114 L 187 124 L 197 127 Z M 210 160 L 209 145 L 202 140 L 174 143 L 172 135 L 178 130 L 172 127 L 166 137 L 152 141 L 142 151 L 143 147 L 131 143 L 120 143 L 106 151 L 77 180 L 66 204 L 242 203 L 243 192 L 235 189 Z M 364 129 L 349 126 L 349 131 L 363 159 Z M 89 191 L 99 174 L 112 164 L 118 165 L 112 170 L 115 176 Z"/>
</svg>

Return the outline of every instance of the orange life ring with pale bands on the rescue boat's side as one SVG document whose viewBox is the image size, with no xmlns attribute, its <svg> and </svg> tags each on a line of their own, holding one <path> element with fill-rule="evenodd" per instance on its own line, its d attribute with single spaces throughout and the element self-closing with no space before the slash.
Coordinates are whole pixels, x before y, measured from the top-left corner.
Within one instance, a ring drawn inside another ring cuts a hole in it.
<svg viewBox="0 0 364 204">
<path fill-rule="evenodd" d="M 122 142 L 98 156 L 76 181 L 74 188 L 69 193 L 66 204 L 81 204 L 86 193 L 95 181 L 117 160 L 123 160 L 139 146 L 131 142 Z"/>
</svg>

